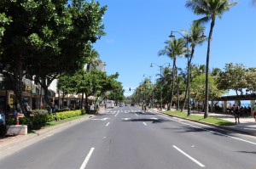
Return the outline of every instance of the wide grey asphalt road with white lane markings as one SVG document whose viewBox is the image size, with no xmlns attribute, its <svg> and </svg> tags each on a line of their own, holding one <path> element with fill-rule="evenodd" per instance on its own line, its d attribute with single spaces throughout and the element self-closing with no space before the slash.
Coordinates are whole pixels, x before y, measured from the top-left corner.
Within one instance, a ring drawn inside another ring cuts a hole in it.
<svg viewBox="0 0 256 169">
<path fill-rule="evenodd" d="M 0 168 L 256 168 L 256 138 L 125 106 L 49 132 Z"/>
</svg>

